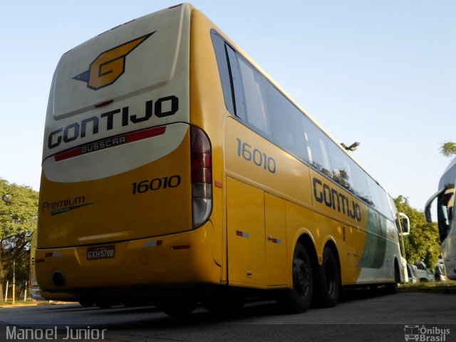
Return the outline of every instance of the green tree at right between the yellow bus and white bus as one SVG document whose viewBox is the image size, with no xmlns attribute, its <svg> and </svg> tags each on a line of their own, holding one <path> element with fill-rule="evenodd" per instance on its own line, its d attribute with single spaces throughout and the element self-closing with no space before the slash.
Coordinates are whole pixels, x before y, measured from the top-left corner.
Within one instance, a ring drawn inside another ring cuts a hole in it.
<svg viewBox="0 0 456 342">
<path fill-rule="evenodd" d="M 410 219 L 410 234 L 404 237 L 405 259 L 409 264 L 424 261 L 430 269 L 434 269 L 440 256 L 437 223 L 428 223 L 425 213 L 410 207 L 406 197 L 399 196 L 394 202 L 398 211 Z"/>
</svg>

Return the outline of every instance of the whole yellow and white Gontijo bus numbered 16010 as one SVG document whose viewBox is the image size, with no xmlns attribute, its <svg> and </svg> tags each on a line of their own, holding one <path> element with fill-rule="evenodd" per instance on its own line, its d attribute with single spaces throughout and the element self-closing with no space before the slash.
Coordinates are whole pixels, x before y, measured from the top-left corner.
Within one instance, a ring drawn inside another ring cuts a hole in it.
<svg viewBox="0 0 456 342">
<path fill-rule="evenodd" d="M 291 312 L 403 281 L 394 203 L 190 4 L 65 53 L 43 143 L 41 289 L 167 314 Z"/>
</svg>

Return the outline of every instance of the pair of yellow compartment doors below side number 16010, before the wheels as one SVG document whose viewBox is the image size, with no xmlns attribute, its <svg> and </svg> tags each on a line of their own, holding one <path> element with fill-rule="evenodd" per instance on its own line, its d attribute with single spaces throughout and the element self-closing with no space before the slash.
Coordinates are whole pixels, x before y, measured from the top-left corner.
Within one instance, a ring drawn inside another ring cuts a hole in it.
<svg viewBox="0 0 456 342">
<path fill-rule="evenodd" d="M 286 286 L 285 203 L 284 199 L 227 178 L 231 284 Z"/>
</svg>

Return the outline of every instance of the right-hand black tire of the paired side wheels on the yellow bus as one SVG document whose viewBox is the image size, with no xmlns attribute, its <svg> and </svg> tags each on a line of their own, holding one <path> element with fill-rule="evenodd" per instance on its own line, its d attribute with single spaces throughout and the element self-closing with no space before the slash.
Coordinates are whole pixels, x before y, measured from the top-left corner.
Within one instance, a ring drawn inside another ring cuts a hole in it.
<svg viewBox="0 0 456 342">
<path fill-rule="evenodd" d="M 323 262 L 316 269 L 314 303 L 323 308 L 336 306 L 341 289 L 341 277 L 331 248 L 323 249 Z"/>
</svg>

